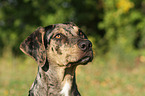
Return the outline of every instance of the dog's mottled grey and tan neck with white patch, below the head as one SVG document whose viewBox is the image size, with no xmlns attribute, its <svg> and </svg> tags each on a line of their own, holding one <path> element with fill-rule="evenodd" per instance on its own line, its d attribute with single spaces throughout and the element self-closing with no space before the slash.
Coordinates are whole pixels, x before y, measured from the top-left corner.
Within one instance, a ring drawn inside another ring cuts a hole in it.
<svg viewBox="0 0 145 96">
<path fill-rule="evenodd" d="M 54 64 L 50 64 L 47 71 L 41 67 L 38 68 L 37 81 L 35 80 L 37 86 L 34 82 L 31 90 L 38 90 L 37 94 L 39 91 L 43 91 L 41 93 L 44 93 L 44 96 L 80 96 L 75 80 L 76 66 L 65 68 L 51 65 Z M 33 93 L 35 95 L 35 92 Z"/>
</svg>

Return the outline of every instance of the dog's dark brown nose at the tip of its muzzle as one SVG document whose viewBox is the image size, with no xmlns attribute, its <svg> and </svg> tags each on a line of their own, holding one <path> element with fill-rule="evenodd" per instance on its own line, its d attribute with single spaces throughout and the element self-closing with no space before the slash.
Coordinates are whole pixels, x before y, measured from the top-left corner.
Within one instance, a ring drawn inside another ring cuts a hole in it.
<svg viewBox="0 0 145 96">
<path fill-rule="evenodd" d="M 92 43 L 89 40 L 79 40 L 78 47 L 82 51 L 87 51 L 87 50 L 90 50 L 92 48 Z"/>
</svg>

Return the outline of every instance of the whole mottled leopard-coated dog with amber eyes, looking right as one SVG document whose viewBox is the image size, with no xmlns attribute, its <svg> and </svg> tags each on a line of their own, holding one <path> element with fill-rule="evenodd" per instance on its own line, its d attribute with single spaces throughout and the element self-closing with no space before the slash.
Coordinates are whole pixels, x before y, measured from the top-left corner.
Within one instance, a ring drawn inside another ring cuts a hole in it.
<svg viewBox="0 0 145 96">
<path fill-rule="evenodd" d="M 80 96 L 75 69 L 93 59 L 92 43 L 74 23 L 37 28 L 20 49 L 38 63 L 29 96 Z"/>
</svg>

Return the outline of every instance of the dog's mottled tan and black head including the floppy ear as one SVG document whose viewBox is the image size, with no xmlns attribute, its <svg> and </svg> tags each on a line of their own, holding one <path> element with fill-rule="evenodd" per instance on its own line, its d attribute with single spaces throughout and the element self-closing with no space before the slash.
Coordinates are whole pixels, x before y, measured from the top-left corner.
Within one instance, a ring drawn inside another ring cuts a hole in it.
<svg viewBox="0 0 145 96">
<path fill-rule="evenodd" d="M 92 43 L 73 23 L 39 27 L 21 43 L 20 49 L 40 67 L 46 61 L 55 66 L 71 67 L 93 59 Z"/>
</svg>

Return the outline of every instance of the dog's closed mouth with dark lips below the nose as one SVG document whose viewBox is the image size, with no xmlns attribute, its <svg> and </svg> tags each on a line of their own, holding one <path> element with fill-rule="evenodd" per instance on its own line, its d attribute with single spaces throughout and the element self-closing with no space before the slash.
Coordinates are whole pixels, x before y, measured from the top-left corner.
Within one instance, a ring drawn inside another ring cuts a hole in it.
<svg viewBox="0 0 145 96">
<path fill-rule="evenodd" d="M 76 62 L 70 62 L 70 63 L 68 63 L 66 66 L 67 66 L 67 67 L 71 67 L 71 66 L 75 66 L 75 65 L 79 65 L 79 64 L 81 64 L 81 65 L 86 65 L 88 62 L 91 62 L 92 59 L 93 59 L 93 58 L 90 57 L 90 56 L 85 56 L 85 57 L 79 59 L 79 60 L 76 61 Z"/>
</svg>

